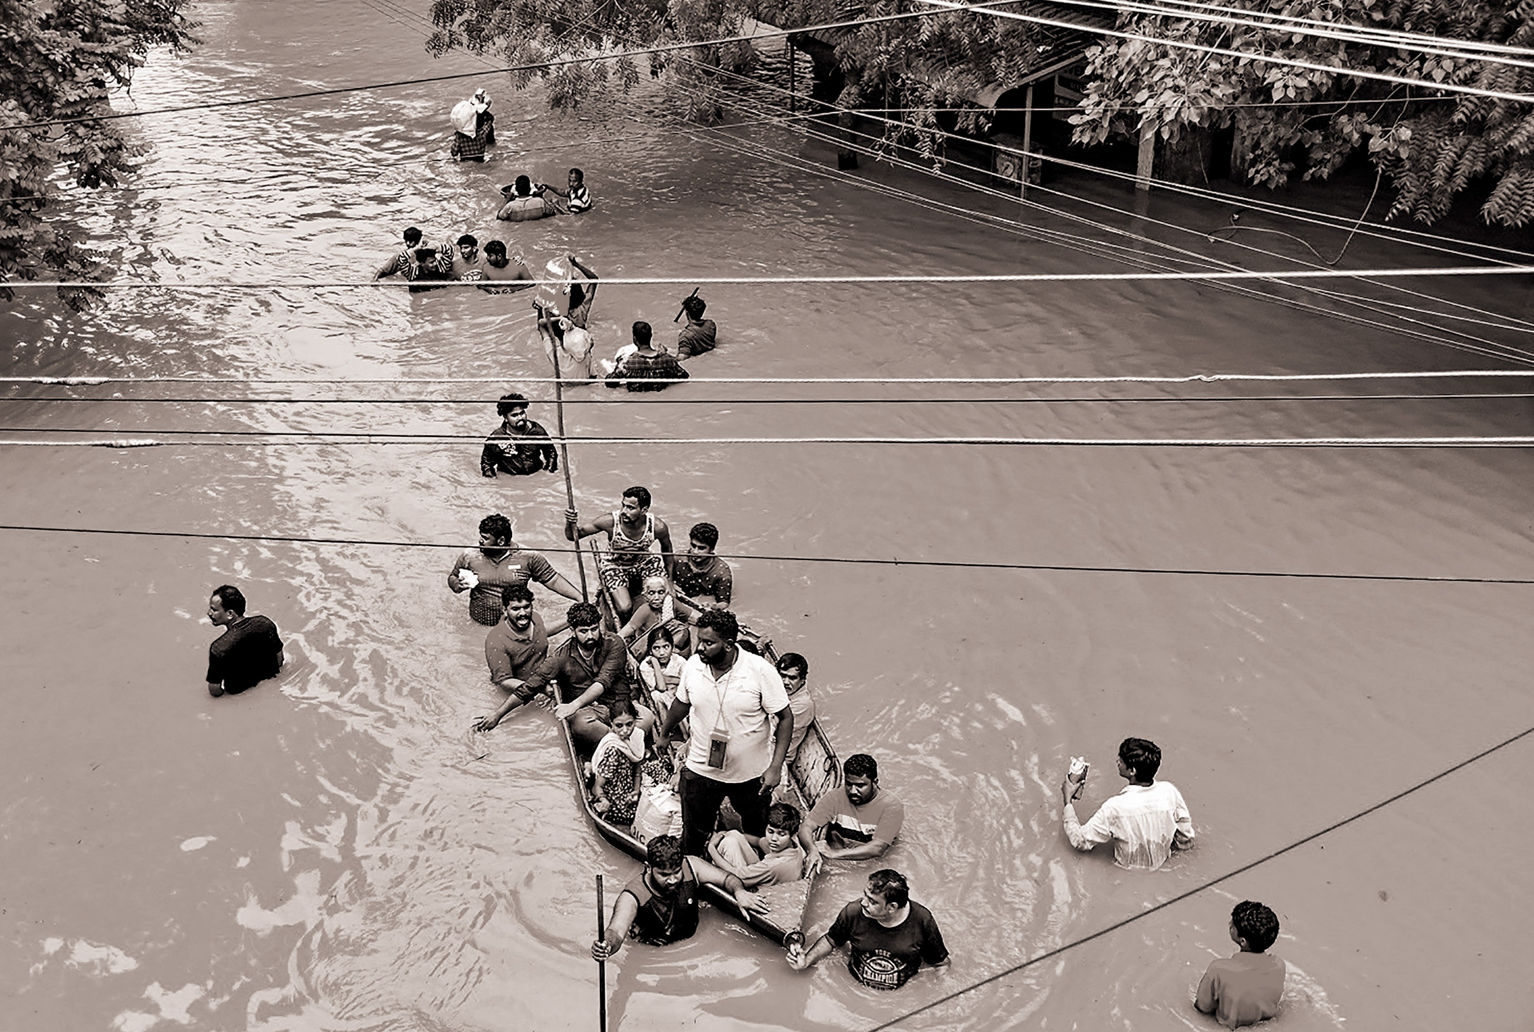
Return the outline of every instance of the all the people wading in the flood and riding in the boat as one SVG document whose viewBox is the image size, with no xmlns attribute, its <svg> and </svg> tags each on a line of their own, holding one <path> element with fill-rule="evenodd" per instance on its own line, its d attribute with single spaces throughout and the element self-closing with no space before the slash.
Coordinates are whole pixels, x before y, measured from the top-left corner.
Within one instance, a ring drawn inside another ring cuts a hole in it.
<svg viewBox="0 0 1534 1032">
<path fill-rule="evenodd" d="M 482 94 L 465 104 L 472 118 L 454 109 L 454 155 L 476 161 L 494 141 L 494 120 L 485 118 L 489 101 Z M 518 176 L 506 195 L 499 218 L 511 218 L 505 212 L 512 204 L 532 210 L 531 199 L 560 212 L 584 212 L 592 204 L 580 169 L 569 172 L 566 190 Z M 472 281 L 491 293 L 532 285 L 522 255 L 511 255 L 500 239 L 488 241 L 483 251 L 472 235 L 460 236 L 456 247 L 433 247 L 411 227 L 403 239 L 405 248 L 379 268 L 380 278 Z M 535 304 L 537 328 L 551 359 L 554 350 L 565 359 L 565 379 L 592 379 L 589 319 L 598 276 L 574 255 L 565 262 L 563 299 Z M 683 301 L 678 320 L 686 314 L 687 325 L 675 356 L 653 347 L 649 324 L 635 322 L 632 345 L 606 370 L 609 385 L 655 389 L 666 383 L 653 380 L 686 379 L 681 360 L 715 347 L 716 328 L 704 311 L 696 291 Z M 558 471 L 560 452 L 528 409 L 522 394 L 497 402 L 502 422 L 480 452 L 485 477 Z M 468 593 L 469 618 L 488 627 L 485 662 L 502 696 L 474 724 L 476 731 L 495 730 L 529 702 L 551 705 L 586 758 L 592 808 L 644 843 L 644 869 L 618 894 L 604 934 L 591 946 L 598 961 L 629 938 L 653 946 L 689 938 L 698 928 L 704 885 L 727 892 L 742 912 L 764 912 L 767 903 L 756 889 L 813 877 L 827 862 L 877 860 L 905 823 L 905 807 L 881 787 L 879 764 L 868 753 L 848 756 L 841 784 L 813 800 L 808 813 L 795 805 L 784 771 L 816 721 L 810 664 L 795 652 L 770 662 L 741 635 L 732 612 L 733 572 L 716 554 L 718 528 L 693 523 L 686 552 L 678 554 L 670 526 L 650 504 L 650 492 L 632 486 L 611 512 L 592 518 L 565 512 L 565 537 L 577 547 L 588 537 L 606 538 L 597 577 L 615 629 L 603 626 L 601 610 L 548 558 L 518 546 L 512 521 L 499 512 L 480 520 L 479 544 L 457 557 L 446 578 L 451 592 Z M 571 601 L 563 618 L 545 623 L 534 607 L 534 583 Z M 247 615 L 239 589 L 216 587 L 207 615 L 224 627 L 209 649 L 213 696 L 238 695 L 282 669 L 276 626 Z M 552 644 L 561 633 L 565 639 Z M 680 762 L 663 748 L 673 739 Z M 1060 784 L 1066 842 L 1080 851 L 1112 845 L 1114 863 L 1131 871 L 1155 871 L 1174 851 L 1192 846 L 1187 804 L 1175 785 L 1158 781 L 1160 767 L 1154 742 L 1126 738 L 1118 747 L 1118 774 L 1127 785 L 1083 823 L 1075 800 L 1089 767 L 1072 761 Z M 1278 928 L 1278 917 L 1262 903 L 1236 905 L 1230 938 L 1239 951 L 1209 965 L 1193 1004 L 1229 1027 L 1275 1017 L 1285 966 L 1266 951 Z M 802 935 L 790 935 L 785 960 L 802 971 L 842 946 L 853 977 L 876 989 L 896 989 L 923 965 L 950 961 L 937 919 L 911 899 L 907 877 L 893 868 L 871 871 L 862 896 L 842 906 L 808 946 Z"/>
</svg>

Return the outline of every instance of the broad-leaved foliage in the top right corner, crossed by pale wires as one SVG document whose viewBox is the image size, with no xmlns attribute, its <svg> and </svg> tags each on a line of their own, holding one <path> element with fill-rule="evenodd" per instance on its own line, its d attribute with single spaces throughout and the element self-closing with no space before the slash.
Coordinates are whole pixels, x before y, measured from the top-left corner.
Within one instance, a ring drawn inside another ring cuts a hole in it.
<svg viewBox="0 0 1534 1032">
<path fill-rule="evenodd" d="M 1454 40 L 1534 46 L 1534 0 L 1236 0 L 1232 9 L 1285 14 L 1338 29 L 1385 28 Z M 1327 178 L 1359 147 L 1396 187 L 1391 215 L 1442 218 L 1456 198 L 1485 192 L 1488 222 L 1534 219 L 1534 104 L 1394 86 L 1350 75 L 1388 72 L 1534 94 L 1534 71 L 1433 57 L 1315 35 L 1164 17 L 1126 15 L 1120 28 L 1227 51 L 1284 57 L 1336 71 L 1312 71 L 1253 58 L 1109 40 L 1089 55 L 1085 110 L 1072 118 L 1080 143 L 1138 136 L 1157 126 L 1164 140 L 1200 126 L 1235 126 L 1249 152 L 1252 182 L 1282 186 Z M 1285 106 L 1264 107 L 1281 103 Z"/>
</svg>

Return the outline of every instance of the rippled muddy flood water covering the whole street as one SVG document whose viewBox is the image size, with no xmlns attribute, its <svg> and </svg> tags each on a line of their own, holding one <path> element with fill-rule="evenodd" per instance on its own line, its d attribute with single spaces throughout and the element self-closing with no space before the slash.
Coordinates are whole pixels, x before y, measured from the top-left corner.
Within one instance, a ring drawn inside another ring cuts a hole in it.
<svg viewBox="0 0 1534 1032">
<path fill-rule="evenodd" d="M 420 11 L 390 0 L 204 3 L 202 46 L 156 57 L 133 101 L 485 66 L 426 58 Z M 497 159 L 446 163 L 445 112 L 474 84 L 497 98 Z M 555 115 L 486 74 L 146 118 L 135 127 L 150 146 L 144 173 L 94 198 L 92 225 L 121 248 L 120 278 L 161 282 L 365 279 L 407 224 L 500 236 L 538 264 L 574 251 L 611 276 L 1126 268 L 807 172 L 801 158 L 834 167 L 821 143 L 773 127 L 684 132 L 649 117 L 650 103 Z M 571 164 L 588 170 L 595 212 L 489 221 L 497 186 L 523 169 L 561 181 Z M 1019 216 L 868 161 L 856 178 Z M 1086 178 L 1069 189 L 1132 204 Z M 1150 210 L 1200 228 L 1226 213 L 1163 195 Z M 1305 233 L 1327 253 L 1342 242 Z M 1233 255 L 1187 239 L 1177 242 Z M 1292 242 L 1261 242 L 1301 256 Z M 1364 264 L 1422 261 L 1368 238 L 1351 248 Z M 1243 261 L 1262 267 L 1261 256 Z M 1526 279 L 1431 288 L 1534 317 Z M 638 317 L 670 342 L 687 290 L 603 287 L 598 350 L 611 353 Z M 723 343 L 692 362 L 696 377 L 1513 368 L 1193 284 L 703 293 Z M 1529 343 L 1508 328 L 1443 325 Z M 89 314 L 48 297 L 0 311 L 6 376 L 120 377 L 6 385 L 5 439 L 204 434 L 143 449 L 6 446 L 0 521 L 379 541 L 0 532 L 0 1027 L 595 1027 L 594 876 L 606 876 L 611 902 L 638 865 L 589 833 L 545 712 L 509 719 L 476 759 L 469 724 L 499 693 L 485 678 L 483 629 L 443 583 L 449 546 L 471 540 L 488 512 L 514 514 L 529 547 L 561 544 L 561 478 L 485 480 L 477 468 L 474 435 L 497 422 L 500 393 L 525 389 L 538 399 L 534 417 L 554 425 L 529 337 L 525 296 L 468 291 L 133 290 Z M 676 439 L 1488 435 L 1529 434 L 1528 399 L 1215 399 L 1526 389 L 1519 379 L 689 383 L 663 396 L 577 388 L 568 414 L 572 435 Z M 1020 400 L 1083 397 L 1210 400 Z M 249 431 L 465 440 L 239 437 Z M 584 514 L 644 483 L 673 534 L 713 521 L 729 554 L 1534 578 L 1534 462 L 1523 449 L 571 451 Z M 551 555 L 575 575 L 572 557 Z M 629 946 L 609 965 L 614 1027 L 868 1029 L 1259 860 L 1534 724 L 1526 584 L 792 558 L 738 560 L 735 570 L 747 623 L 808 656 L 839 751 L 876 754 L 882 785 L 905 800 L 905 834 L 885 863 L 937 915 L 954 961 L 876 994 L 839 960 L 796 974 L 710 911 L 693 940 Z M 204 606 L 224 581 L 278 623 L 290 661 L 275 682 L 210 699 Z M 561 604 L 540 593 L 546 615 Z M 1058 827 L 1068 758 L 1094 765 L 1089 811 L 1117 791 L 1114 750 L 1127 735 L 1163 747 L 1161 774 L 1198 830 L 1197 848 L 1155 874 L 1120 871 L 1101 850 L 1075 854 Z M 1534 738 L 896 1027 L 1212 1029 L 1189 1000 L 1209 960 L 1233 949 L 1226 925 L 1241 899 L 1267 902 L 1284 926 L 1273 952 L 1289 963 L 1289 991 L 1275 1027 L 1525 1027 L 1534 830 L 1517 771 L 1531 759 Z M 834 866 L 816 886 L 818 928 L 868 869 Z"/>
</svg>

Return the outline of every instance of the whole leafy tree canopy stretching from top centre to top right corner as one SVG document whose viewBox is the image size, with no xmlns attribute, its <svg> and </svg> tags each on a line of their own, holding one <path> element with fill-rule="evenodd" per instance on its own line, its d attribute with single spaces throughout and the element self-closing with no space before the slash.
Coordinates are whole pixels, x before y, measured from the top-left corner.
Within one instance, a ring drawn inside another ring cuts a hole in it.
<svg viewBox="0 0 1534 1032">
<path fill-rule="evenodd" d="M 1238 15 L 1312 18 L 1339 32 L 1401 29 L 1448 44 L 1534 48 L 1534 0 L 1227 0 L 1223 6 Z M 437 32 L 430 48 L 437 54 L 494 51 L 509 63 L 532 63 L 730 35 L 742 17 L 798 28 L 919 9 L 908 0 L 434 0 Z M 1252 182 L 1272 187 L 1295 175 L 1330 176 L 1364 149 L 1396 189 L 1391 215 L 1431 222 L 1471 193 L 1482 198 L 1490 222 L 1534 219 L 1534 106 L 1350 75 L 1373 69 L 1422 83 L 1534 94 L 1534 69 L 1198 18 L 1121 14 L 1118 25 L 1140 35 L 1287 57 L 1330 71 L 1109 38 L 1091 52 L 1085 110 L 1074 120 L 1077 143 L 1132 140 L 1146 121 L 1169 141 L 1184 132 L 1235 127 L 1238 166 Z M 957 130 L 983 132 L 988 115 L 973 98 L 988 84 L 1023 78 L 1048 46 L 1040 28 L 982 12 L 827 35 L 844 77 L 836 103 L 900 107 L 904 120 L 919 129 L 888 135 L 914 136 L 934 156 L 936 138 L 923 140 L 922 130 L 939 126 L 939 109 L 966 109 Z M 707 81 L 707 71 L 747 71 L 752 63 L 749 48 L 735 44 L 655 57 L 649 71 L 673 71 L 687 113 L 712 117 L 718 107 L 695 89 Z M 552 104 L 574 106 L 609 87 L 632 86 L 640 69 L 630 60 L 578 63 L 525 72 L 520 84 L 535 75 L 549 83 Z"/>
</svg>

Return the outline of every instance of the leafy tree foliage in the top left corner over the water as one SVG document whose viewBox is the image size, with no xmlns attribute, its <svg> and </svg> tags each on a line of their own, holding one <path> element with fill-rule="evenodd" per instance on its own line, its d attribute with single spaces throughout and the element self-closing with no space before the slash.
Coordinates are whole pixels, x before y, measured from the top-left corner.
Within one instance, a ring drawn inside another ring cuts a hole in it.
<svg viewBox="0 0 1534 1032">
<path fill-rule="evenodd" d="M 94 279 L 101 255 L 78 242 L 78 227 L 58 215 L 74 187 L 117 186 L 133 169 L 110 110 L 109 92 L 126 87 L 155 46 L 186 49 L 189 0 L 0 0 L 0 297 L 6 281 Z M 64 126 L 28 123 L 80 118 Z M 81 307 L 98 291 L 60 291 Z"/>
</svg>

